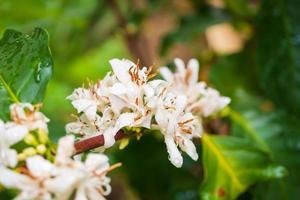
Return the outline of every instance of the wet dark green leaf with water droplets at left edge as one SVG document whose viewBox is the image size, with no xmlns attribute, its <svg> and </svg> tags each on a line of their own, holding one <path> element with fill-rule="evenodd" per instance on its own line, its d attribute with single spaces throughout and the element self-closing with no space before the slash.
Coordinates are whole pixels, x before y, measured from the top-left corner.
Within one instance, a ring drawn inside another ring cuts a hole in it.
<svg viewBox="0 0 300 200">
<path fill-rule="evenodd" d="M 0 118 L 13 102 L 42 101 L 52 74 L 48 34 L 36 28 L 30 35 L 6 30 L 0 40 Z"/>
</svg>

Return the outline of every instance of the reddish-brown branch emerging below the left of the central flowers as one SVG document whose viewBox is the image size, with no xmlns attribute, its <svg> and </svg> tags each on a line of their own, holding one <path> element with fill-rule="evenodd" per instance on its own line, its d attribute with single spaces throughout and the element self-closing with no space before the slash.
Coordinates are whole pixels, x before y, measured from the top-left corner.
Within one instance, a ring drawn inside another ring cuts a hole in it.
<svg viewBox="0 0 300 200">
<path fill-rule="evenodd" d="M 122 130 L 118 131 L 115 135 L 115 140 L 121 140 L 125 137 L 125 134 Z M 75 142 L 75 155 L 83 153 L 85 151 L 95 149 L 104 145 L 104 137 L 103 135 L 97 135 L 94 137 L 90 137 L 87 139 L 80 140 Z"/>
</svg>

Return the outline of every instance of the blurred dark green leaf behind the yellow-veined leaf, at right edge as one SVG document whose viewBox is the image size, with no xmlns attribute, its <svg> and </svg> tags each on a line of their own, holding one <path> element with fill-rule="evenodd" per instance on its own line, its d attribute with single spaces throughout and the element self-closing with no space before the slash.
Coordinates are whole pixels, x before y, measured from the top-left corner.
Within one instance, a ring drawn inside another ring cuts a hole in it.
<svg viewBox="0 0 300 200">
<path fill-rule="evenodd" d="M 253 190 L 258 199 L 298 199 L 300 179 L 300 119 L 290 113 L 276 111 L 263 113 L 256 110 L 243 112 L 242 117 L 252 127 L 253 134 L 268 145 L 275 162 L 281 163 L 288 169 L 284 179 L 259 184 Z M 249 138 L 244 129 L 233 127 L 233 134 Z"/>
</svg>

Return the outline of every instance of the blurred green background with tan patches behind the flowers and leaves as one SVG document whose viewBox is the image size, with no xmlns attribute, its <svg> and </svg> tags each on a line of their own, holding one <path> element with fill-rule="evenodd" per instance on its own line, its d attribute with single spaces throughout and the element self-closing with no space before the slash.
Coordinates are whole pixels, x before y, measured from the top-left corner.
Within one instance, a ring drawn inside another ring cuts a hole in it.
<svg viewBox="0 0 300 200">
<path fill-rule="evenodd" d="M 200 79 L 232 98 L 231 107 L 274 152 L 272 159 L 289 170 L 286 178 L 256 183 L 238 199 L 299 198 L 299 1 L 0 0 L 1 34 L 34 27 L 50 35 L 54 75 L 43 109 L 54 140 L 65 134 L 74 113 L 66 96 L 87 80 L 102 78 L 111 58 L 158 67 L 174 57 L 195 57 Z M 205 127 L 217 135 L 243 134 L 227 118 Z M 112 162 L 124 164 L 112 173 L 109 199 L 199 199 L 201 161 L 187 158 L 176 169 L 161 138 L 146 135 L 109 154 Z"/>
</svg>

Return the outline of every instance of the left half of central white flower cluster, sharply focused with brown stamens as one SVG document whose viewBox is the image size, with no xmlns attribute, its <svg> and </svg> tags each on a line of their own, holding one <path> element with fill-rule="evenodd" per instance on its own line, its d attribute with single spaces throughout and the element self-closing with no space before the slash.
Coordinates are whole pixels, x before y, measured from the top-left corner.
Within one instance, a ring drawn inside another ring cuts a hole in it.
<svg viewBox="0 0 300 200">
<path fill-rule="evenodd" d="M 114 144 L 115 134 L 123 127 L 150 128 L 153 117 L 153 108 L 148 103 L 154 88 L 146 83 L 151 70 L 140 69 L 138 64 L 125 59 L 113 59 L 110 63 L 112 73 L 89 89 L 76 89 L 68 97 L 83 114 L 66 126 L 68 133 L 83 138 L 103 135 L 105 148 Z"/>
</svg>

